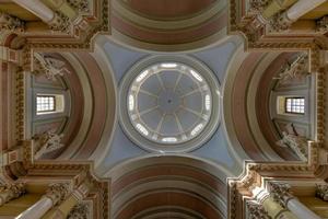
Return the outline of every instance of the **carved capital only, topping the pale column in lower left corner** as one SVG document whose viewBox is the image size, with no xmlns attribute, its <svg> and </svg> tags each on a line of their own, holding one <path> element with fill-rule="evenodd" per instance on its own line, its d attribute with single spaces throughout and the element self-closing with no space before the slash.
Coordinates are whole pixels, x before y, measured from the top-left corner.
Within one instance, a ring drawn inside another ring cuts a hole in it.
<svg viewBox="0 0 328 219">
<path fill-rule="evenodd" d="M 52 183 L 49 185 L 46 197 L 52 200 L 52 206 L 59 205 L 70 194 L 68 183 Z"/>
</svg>

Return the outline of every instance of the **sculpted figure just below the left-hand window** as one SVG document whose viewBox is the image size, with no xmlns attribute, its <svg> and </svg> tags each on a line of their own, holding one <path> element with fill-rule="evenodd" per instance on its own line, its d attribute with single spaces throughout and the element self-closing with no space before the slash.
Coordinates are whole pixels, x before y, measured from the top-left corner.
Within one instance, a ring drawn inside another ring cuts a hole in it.
<svg viewBox="0 0 328 219">
<path fill-rule="evenodd" d="M 45 131 L 44 134 L 34 136 L 34 159 L 39 159 L 45 153 L 62 148 L 62 138 L 63 134 L 58 135 L 52 131 Z"/>
</svg>

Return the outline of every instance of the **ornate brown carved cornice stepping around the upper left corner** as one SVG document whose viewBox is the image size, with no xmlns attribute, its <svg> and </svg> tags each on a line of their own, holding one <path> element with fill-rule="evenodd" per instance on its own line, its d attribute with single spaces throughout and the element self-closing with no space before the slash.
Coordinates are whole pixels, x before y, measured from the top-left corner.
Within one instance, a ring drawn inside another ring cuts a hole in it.
<svg viewBox="0 0 328 219">
<path fill-rule="evenodd" d="M 77 5 L 79 7 L 80 3 L 83 4 L 83 1 L 72 0 L 71 2 L 78 3 Z M 79 14 L 79 19 L 67 28 L 68 32 L 54 34 L 51 31 L 45 31 L 34 37 L 27 34 L 22 35 L 26 39 L 22 49 L 24 70 L 32 70 L 33 54 L 35 51 L 44 51 L 47 49 L 51 49 L 52 51 L 91 51 L 94 46 L 93 41 L 97 34 L 110 33 L 109 0 L 91 0 L 87 2 L 92 4 L 93 10 L 87 14 Z M 89 8 L 91 8 L 91 5 Z M 60 19 L 58 14 L 58 20 L 54 20 L 52 30 L 65 28 L 67 24 L 66 19 Z"/>
</svg>

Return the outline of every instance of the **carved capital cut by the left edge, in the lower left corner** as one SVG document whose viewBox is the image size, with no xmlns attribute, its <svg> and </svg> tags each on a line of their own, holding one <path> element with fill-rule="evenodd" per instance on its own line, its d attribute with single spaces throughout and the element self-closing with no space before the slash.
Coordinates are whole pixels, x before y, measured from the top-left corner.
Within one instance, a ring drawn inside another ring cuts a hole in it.
<svg viewBox="0 0 328 219">
<path fill-rule="evenodd" d="M 12 185 L 5 185 L 0 188 L 0 206 L 10 201 L 11 199 L 19 198 L 25 193 L 24 183 L 15 183 Z"/>
</svg>

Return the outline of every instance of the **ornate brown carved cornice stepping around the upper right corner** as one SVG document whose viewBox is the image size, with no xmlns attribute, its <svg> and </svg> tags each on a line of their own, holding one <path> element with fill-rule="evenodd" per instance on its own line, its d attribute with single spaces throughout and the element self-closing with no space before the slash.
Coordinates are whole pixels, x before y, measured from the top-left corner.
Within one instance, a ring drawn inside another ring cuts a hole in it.
<svg viewBox="0 0 328 219">
<path fill-rule="evenodd" d="M 249 3 L 250 2 L 250 3 Z M 241 34 L 245 37 L 245 49 L 315 49 L 316 42 L 321 33 L 315 30 L 311 34 L 289 37 L 288 32 L 272 34 L 285 30 L 292 21 L 284 13 L 276 14 L 267 21 L 261 15 L 262 5 L 260 0 L 230 0 L 229 34 Z M 250 5 L 250 7 L 249 7 Z M 271 26 L 272 25 L 272 26 Z M 271 26 L 271 27 L 270 27 Z"/>
</svg>

